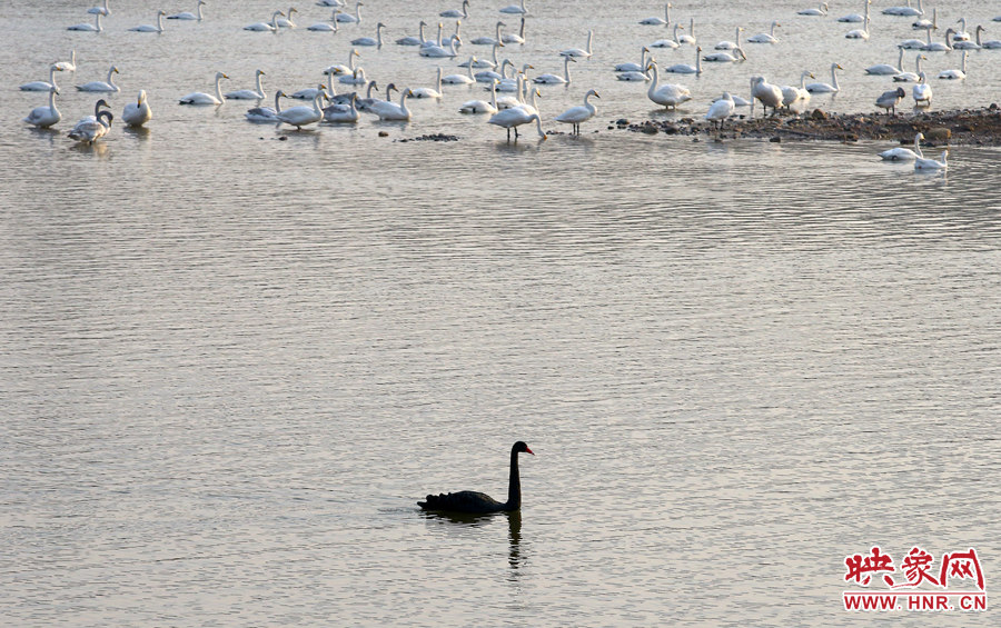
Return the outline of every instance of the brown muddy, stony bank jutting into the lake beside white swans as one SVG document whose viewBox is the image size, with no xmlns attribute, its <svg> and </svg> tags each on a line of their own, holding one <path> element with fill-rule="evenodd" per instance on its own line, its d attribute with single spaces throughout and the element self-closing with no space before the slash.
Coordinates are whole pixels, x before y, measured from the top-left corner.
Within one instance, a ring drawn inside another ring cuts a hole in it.
<svg viewBox="0 0 1001 628">
<path fill-rule="evenodd" d="M 851 142 L 858 140 L 886 140 L 909 143 L 915 133 L 924 133 L 932 146 L 1001 146 L 1001 108 L 991 104 L 984 109 L 958 111 L 928 111 L 913 114 L 885 113 L 829 114 L 814 109 L 802 116 L 771 116 L 751 118 L 737 114 L 718 131 L 704 119 L 680 118 L 671 121 L 647 120 L 634 123 L 615 120 L 609 129 L 623 129 L 642 133 L 676 136 L 706 136 L 708 138 L 763 138 L 771 141 L 829 140 Z"/>
</svg>

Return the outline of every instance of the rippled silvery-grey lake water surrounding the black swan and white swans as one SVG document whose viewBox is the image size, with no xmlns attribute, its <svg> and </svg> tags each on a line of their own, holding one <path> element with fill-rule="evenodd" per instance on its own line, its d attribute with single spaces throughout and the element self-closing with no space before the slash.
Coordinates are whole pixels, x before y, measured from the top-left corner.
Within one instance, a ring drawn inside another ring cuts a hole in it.
<svg viewBox="0 0 1001 628">
<path fill-rule="evenodd" d="M 657 29 L 634 22 L 656 2 L 529 0 L 517 64 L 558 71 L 553 51 L 596 30 L 595 58 L 541 107 L 565 131 L 552 117 L 596 87 L 581 138 L 508 143 L 454 112 L 479 88 L 446 88 L 405 126 L 276 131 L 244 120 L 252 103 L 176 98 L 208 91 L 216 70 L 230 89 L 258 67 L 268 91 L 307 87 L 376 21 L 395 39 L 450 6 L 371 0 L 337 36 L 272 36 L 240 27 L 278 7 L 210 2 L 205 22 L 156 36 L 126 28 L 157 4 L 121 4 L 99 36 L 63 30 L 88 21 L 86 2 L 0 8 L 2 624 L 994 615 L 846 612 L 841 595 L 845 557 L 872 546 L 898 568 L 914 546 L 935 565 L 975 548 L 988 594 L 1001 574 L 1001 151 L 954 148 L 948 177 L 919 176 L 875 142 L 608 130 L 654 114 L 608 68 L 638 59 Z M 855 46 L 844 24 L 794 14 L 807 6 L 675 7 L 706 41 L 784 24 L 746 64 L 686 80 L 697 97 L 678 116 L 753 73 L 794 81 L 809 61 L 823 78 L 839 57 L 843 92 L 817 104 L 872 112 L 888 79 L 861 68 L 894 61 L 910 21 L 874 6 L 872 40 Z M 489 34 L 494 9 L 475 2 L 464 32 Z M 965 16 L 1001 32 L 994 4 L 939 9 L 943 27 Z M 299 10 L 300 26 L 329 17 Z M 43 99 L 17 86 L 73 48 L 63 121 L 28 129 Z M 933 82 L 934 107 L 997 100 L 998 54 Z M 146 89 L 155 118 L 75 146 L 65 132 L 95 97 L 70 86 L 111 63 L 116 116 Z M 416 87 L 439 62 L 388 44 L 361 63 Z M 396 141 L 432 132 L 459 140 Z M 417 508 L 428 492 L 503 498 L 519 439 L 536 453 L 522 456 L 519 516 Z"/>
</svg>

